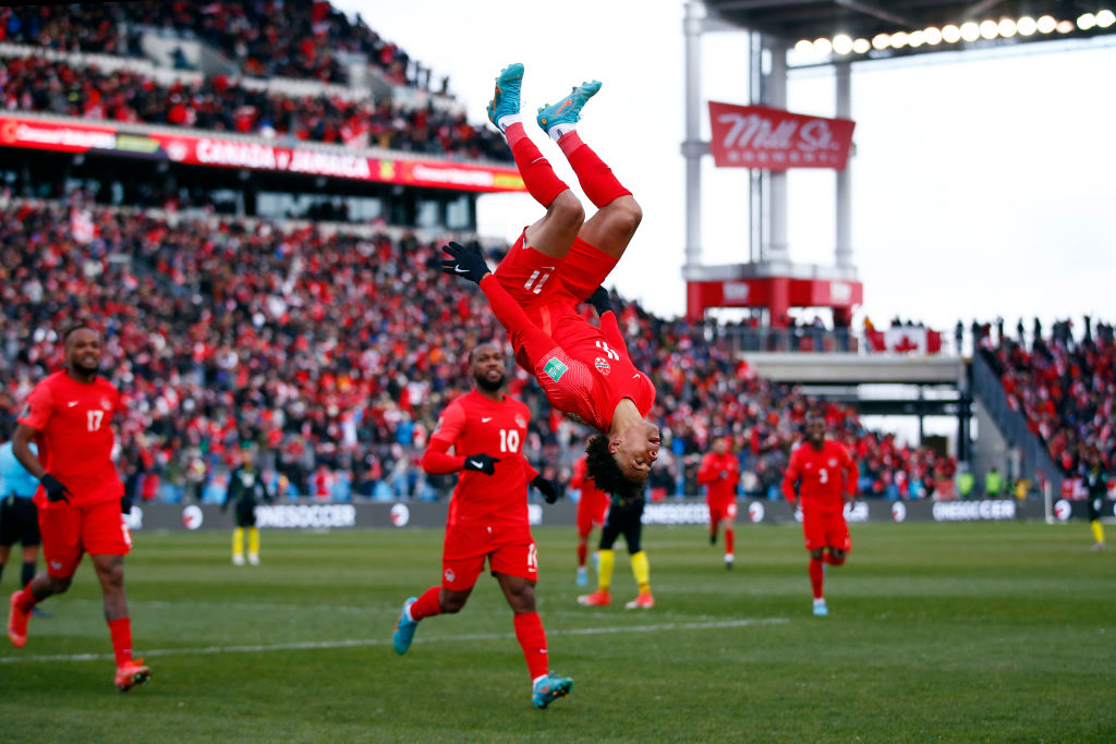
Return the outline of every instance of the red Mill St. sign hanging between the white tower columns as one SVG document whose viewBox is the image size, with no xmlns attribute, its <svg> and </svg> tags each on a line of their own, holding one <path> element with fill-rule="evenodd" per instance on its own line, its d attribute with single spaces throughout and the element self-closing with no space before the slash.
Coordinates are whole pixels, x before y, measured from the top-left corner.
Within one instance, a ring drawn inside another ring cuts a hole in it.
<svg viewBox="0 0 1116 744">
<path fill-rule="evenodd" d="M 718 167 L 844 171 L 855 122 L 804 116 L 767 106 L 709 102 L 710 151 Z"/>
</svg>

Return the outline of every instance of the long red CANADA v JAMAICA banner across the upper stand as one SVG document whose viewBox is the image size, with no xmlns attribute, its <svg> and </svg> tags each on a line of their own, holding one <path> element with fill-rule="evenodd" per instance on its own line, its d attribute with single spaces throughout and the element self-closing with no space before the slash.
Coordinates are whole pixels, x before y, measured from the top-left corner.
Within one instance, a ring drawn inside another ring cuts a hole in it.
<svg viewBox="0 0 1116 744">
<path fill-rule="evenodd" d="M 202 136 L 186 131 L 182 134 L 165 131 L 125 133 L 112 125 L 90 126 L 77 122 L 60 124 L 18 116 L 0 116 L 0 146 L 116 154 L 184 165 L 281 171 L 454 191 L 526 191 L 523 180 L 513 167 L 451 161 L 375 158 L 339 148 L 278 147 L 261 142 Z"/>
</svg>

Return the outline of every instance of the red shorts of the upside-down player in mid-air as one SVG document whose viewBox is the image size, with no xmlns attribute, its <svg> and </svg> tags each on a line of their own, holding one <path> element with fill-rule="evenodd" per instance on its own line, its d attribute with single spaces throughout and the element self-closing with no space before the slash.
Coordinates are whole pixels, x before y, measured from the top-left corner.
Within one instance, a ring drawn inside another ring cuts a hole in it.
<svg viewBox="0 0 1116 744">
<path fill-rule="evenodd" d="M 565 258 L 554 259 L 546 253 L 523 245 L 526 233 L 497 267 L 496 277 L 508 293 L 514 298 L 528 317 L 539 318 L 539 309 L 547 305 L 575 306 L 585 302 L 616 265 L 616 259 L 580 238 Z"/>
</svg>

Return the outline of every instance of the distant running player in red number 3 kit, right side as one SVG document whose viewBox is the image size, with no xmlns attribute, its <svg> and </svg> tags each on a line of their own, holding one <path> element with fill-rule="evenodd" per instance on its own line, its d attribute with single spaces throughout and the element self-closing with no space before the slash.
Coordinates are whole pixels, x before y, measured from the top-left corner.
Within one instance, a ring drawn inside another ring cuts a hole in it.
<svg viewBox="0 0 1116 744">
<path fill-rule="evenodd" d="M 814 613 L 829 615 L 822 584 L 825 564 L 841 566 L 853 550 L 845 523 L 845 504 L 856 497 L 859 472 L 856 461 L 840 442 L 826 438 L 826 422 L 818 415 L 806 419 L 806 442 L 790 455 L 782 477 L 782 495 L 802 508 L 802 533 L 810 551 L 810 586 Z M 795 484 L 798 483 L 798 493 Z"/>
</svg>

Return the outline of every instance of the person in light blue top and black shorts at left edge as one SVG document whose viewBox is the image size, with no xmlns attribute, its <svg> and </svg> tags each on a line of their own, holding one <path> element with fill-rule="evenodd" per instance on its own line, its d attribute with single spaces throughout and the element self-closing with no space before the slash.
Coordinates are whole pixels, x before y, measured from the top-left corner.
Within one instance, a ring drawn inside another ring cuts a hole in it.
<svg viewBox="0 0 1116 744">
<path fill-rule="evenodd" d="M 33 443 L 30 447 L 37 454 Z M 16 460 L 11 442 L 0 444 L 0 577 L 11 555 L 11 547 L 18 542 L 23 547 L 20 589 L 35 578 L 42 542 L 39 537 L 39 510 L 31 501 L 38 489 L 39 482 Z M 37 617 L 50 616 L 38 606 L 32 613 Z"/>
</svg>

